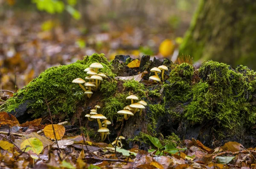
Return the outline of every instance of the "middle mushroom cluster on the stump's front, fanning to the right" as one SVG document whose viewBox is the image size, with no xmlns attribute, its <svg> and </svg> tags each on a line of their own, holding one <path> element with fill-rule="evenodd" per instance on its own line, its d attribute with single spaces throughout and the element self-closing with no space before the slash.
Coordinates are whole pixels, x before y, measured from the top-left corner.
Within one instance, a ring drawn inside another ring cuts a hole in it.
<svg viewBox="0 0 256 169">
<path fill-rule="evenodd" d="M 130 95 L 126 97 L 126 99 L 131 99 L 131 104 L 125 106 L 123 110 L 119 110 L 117 113 L 124 115 L 125 120 L 128 120 L 130 116 L 133 116 L 138 111 L 140 111 L 140 115 L 142 115 L 142 110 L 145 109 L 147 103 L 143 100 L 134 103 L 134 100 L 139 100 L 139 98 L 134 95 Z"/>
</svg>

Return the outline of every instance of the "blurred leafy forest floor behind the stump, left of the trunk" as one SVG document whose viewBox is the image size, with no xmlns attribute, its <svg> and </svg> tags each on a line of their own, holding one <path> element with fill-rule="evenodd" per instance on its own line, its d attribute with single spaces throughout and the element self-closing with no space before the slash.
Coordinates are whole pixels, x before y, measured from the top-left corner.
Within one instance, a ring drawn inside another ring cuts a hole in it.
<svg viewBox="0 0 256 169">
<path fill-rule="evenodd" d="M 2 89 L 95 52 L 175 60 L 198 1 L 0 0 Z"/>
</svg>

